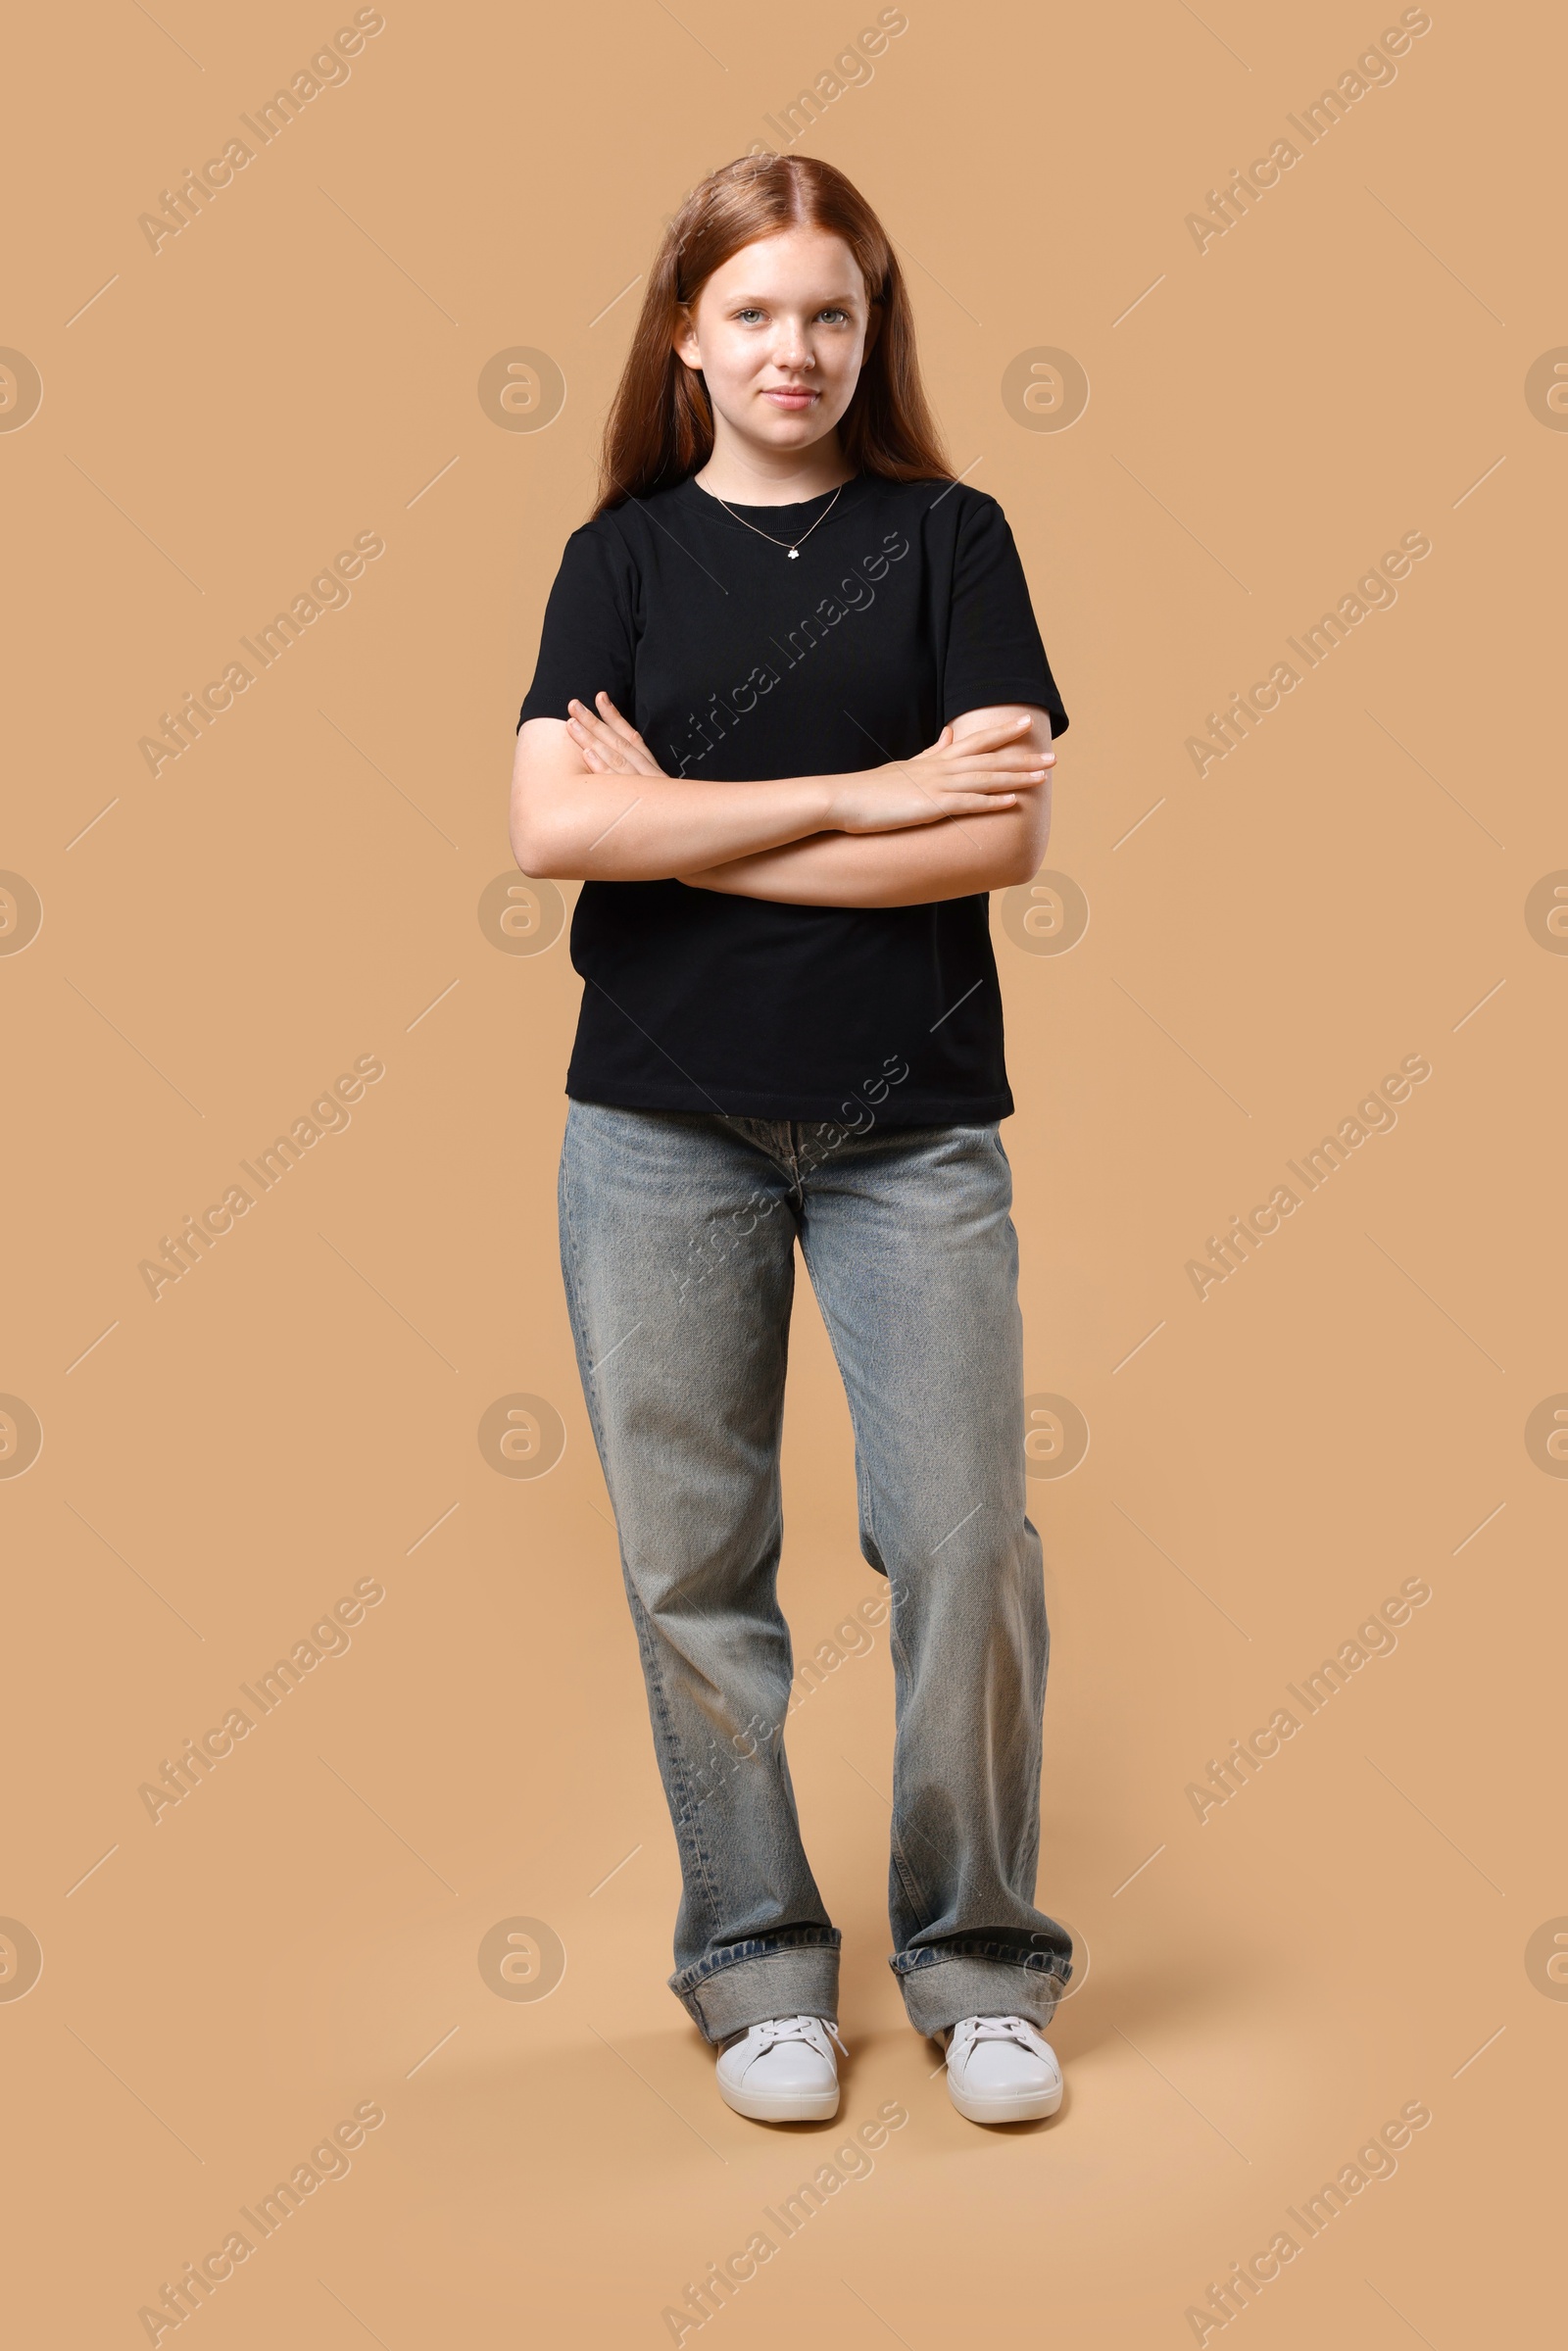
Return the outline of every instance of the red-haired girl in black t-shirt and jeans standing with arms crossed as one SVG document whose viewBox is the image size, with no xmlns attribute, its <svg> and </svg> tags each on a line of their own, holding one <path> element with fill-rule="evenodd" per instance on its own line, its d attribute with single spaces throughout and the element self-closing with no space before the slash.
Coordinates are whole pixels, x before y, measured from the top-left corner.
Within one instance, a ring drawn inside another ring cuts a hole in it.
<svg viewBox="0 0 1568 2351">
<path fill-rule="evenodd" d="M 875 212 L 809 158 L 715 172 L 550 590 L 512 851 L 583 882 L 562 1270 L 679 1843 L 670 1989 L 757 2121 L 832 2116 L 844 2045 L 783 1749 L 797 1241 L 891 1589 L 891 1968 L 959 2114 L 1063 2097 L 987 891 L 1039 870 L 1065 726 Z"/>
</svg>

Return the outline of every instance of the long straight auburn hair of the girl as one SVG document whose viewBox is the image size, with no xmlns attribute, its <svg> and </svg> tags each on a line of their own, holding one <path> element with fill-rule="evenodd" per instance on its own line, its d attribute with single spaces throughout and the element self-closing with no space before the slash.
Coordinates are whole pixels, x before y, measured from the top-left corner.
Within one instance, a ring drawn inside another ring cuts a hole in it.
<svg viewBox="0 0 1568 2351">
<path fill-rule="evenodd" d="M 785 228 L 842 237 L 882 310 L 882 331 L 839 418 L 844 458 L 889 482 L 952 480 L 919 381 L 910 294 L 882 221 L 830 162 L 741 155 L 691 190 L 658 247 L 604 423 L 595 515 L 684 482 L 712 456 L 708 386 L 675 355 L 682 310 L 743 245 Z"/>
</svg>

